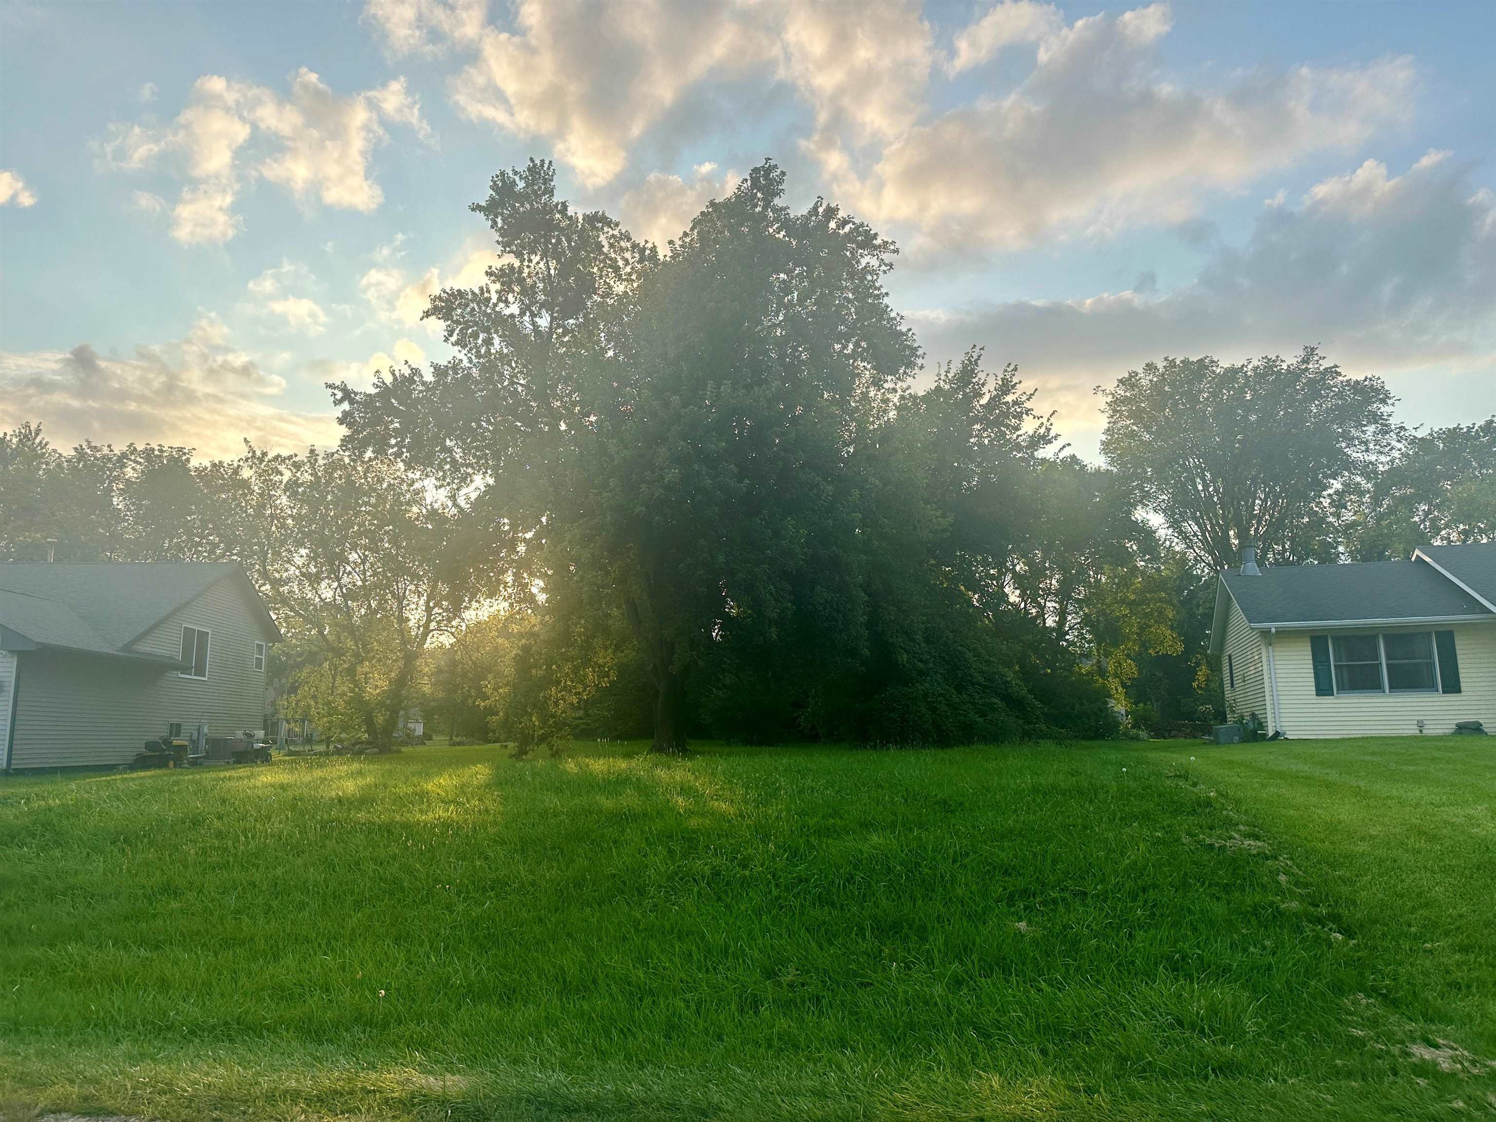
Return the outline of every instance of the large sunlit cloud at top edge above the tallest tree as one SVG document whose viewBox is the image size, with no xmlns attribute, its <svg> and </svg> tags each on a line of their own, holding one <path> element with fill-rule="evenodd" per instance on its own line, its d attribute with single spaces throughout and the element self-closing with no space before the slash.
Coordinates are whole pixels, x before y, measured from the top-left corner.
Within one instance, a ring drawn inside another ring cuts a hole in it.
<svg viewBox="0 0 1496 1122">
<path fill-rule="evenodd" d="M 516 136 L 542 136 L 588 187 L 613 180 L 630 148 L 706 78 L 766 73 L 815 114 L 812 151 L 911 126 L 934 58 L 916 0 L 516 0 L 510 30 L 477 3 L 367 0 L 395 54 L 471 55 L 452 103 Z"/>
</svg>

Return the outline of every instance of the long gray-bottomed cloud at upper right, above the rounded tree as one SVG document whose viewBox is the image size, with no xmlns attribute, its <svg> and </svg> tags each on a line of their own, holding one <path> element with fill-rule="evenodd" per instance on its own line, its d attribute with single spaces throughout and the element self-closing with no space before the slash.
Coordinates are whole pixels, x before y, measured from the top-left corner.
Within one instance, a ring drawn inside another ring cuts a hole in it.
<svg viewBox="0 0 1496 1122">
<path fill-rule="evenodd" d="M 934 247 L 1014 248 L 1177 221 L 1203 191 L 1354 147 L 1408 111 L 1405 58 L 1177 85 L 1158 52 L 1168 28 L 1167 6 L 1153 4 L 1049 33 L 1017 90 L 910 129 L 842 187 L 862 212 Z"/>
</svg>

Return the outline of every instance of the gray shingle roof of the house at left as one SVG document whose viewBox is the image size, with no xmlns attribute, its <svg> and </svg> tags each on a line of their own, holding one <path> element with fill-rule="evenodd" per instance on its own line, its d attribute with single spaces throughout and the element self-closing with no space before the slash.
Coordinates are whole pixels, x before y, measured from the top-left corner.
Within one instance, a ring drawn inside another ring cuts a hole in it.
<svg viewBox="0 0 1496 1122">
<path fill-rule="evenodd" d="M 239 571 L 232 561 L 0 564 L 0 627 L 43 646 L 141 657 L 127 649 L 135 639 Z"/>
</svg>

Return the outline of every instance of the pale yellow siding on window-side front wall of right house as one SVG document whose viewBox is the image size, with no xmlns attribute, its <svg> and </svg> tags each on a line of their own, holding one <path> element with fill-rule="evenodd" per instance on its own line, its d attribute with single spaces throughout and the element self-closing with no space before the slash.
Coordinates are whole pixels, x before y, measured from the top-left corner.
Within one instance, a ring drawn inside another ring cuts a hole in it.
<svg viewBox="0 0 1496 1122">
<path fill-rule="evenodd" d="M 1429 627 L 1384 627 L 1381 636 L 1429 633 Z M 1313 661 L 1308 631 L 1279 631 L 1278 700 L 1284 733 L 1293 738 L 1417 736 L 1418 721 L 1427 735 L 1454 732 L 1456 721 L 1483 721 L 1496 732 L 1496 624 L 1453 624 L 1460 663 L 1460 693 L 1432 691 L 1337 693 L 1313 691 Z M 1331 636 L 1334 631 L 1316 631 Z M 1394 649 L 1396 649 L 1394 643 Z M 1239 670 L 1240 673 L 1240 670 Z M 24 690 L 22 690 L 24 696 Z"/>
</svg>

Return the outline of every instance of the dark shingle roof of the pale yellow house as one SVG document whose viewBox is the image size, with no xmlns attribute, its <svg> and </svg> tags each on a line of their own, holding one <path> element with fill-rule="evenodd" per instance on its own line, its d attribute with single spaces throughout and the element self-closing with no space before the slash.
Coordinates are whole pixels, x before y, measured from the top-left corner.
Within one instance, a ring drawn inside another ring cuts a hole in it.
<svg viewBox="0 0 1496 1122">
<path fill-rule="evenodd" d="M 1492 616 L 1490 609 L 1423 561 L 1272 565 L 1261 576 L 1228 570 L 1221 580 L 1254 627 Z"/>
</svg>

